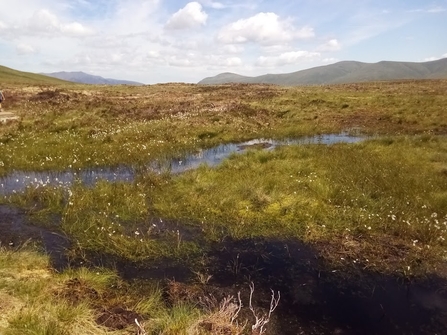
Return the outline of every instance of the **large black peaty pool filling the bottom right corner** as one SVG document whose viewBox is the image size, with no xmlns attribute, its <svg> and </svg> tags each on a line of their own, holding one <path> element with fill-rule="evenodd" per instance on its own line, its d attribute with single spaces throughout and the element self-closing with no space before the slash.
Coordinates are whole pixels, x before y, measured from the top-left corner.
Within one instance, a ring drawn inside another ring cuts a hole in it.
<svg viewBox="0 0 447 335">
<path fill-rule="evenodd" d="M 447 281 L 436 276 L 412 281 L 361 266 L 333 268 L 296 240 L 228 240 L 210 256 L 211 284 L 231 290 L 255 282 L 261 306 L 268 306 L 266 292 L 281 292 L 272 334 L 447 331 Z"/>
</svg>

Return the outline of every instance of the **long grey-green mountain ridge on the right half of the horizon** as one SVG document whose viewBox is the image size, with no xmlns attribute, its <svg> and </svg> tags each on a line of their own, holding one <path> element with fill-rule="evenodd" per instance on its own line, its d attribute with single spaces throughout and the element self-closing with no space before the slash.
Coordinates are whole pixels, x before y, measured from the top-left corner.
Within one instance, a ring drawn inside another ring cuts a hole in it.
<svg viewBox="0 0 447 335">
<path fill-rule="evenodd" d="M 344 61 L 293 73 L 266 74 L 258 77 L 221 73 L 214 77 L 205 78 L 199 84 L 256 83 L 294 86 L 441 78 L 447 79 L 447 58 L 423 63 Z"/>
</svg>

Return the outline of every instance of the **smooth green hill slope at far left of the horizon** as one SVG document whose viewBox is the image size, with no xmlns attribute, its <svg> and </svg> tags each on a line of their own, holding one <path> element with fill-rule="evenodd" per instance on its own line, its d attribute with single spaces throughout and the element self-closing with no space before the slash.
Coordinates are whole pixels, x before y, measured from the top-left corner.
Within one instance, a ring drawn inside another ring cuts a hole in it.
<svg viewBox="0 0 447 335">
<path fill-rule="evenodd" d="M 0 65 L 0 83 L 1 85 L 61 85 L 69 82 L 31 72 L 17 71 Z"/>
</svg>

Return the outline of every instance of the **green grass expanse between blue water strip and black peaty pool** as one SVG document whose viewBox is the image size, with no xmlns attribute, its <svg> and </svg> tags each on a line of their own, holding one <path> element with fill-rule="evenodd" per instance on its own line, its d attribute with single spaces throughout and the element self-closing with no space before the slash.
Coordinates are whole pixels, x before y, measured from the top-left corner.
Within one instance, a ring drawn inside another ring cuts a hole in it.
<svg viewBox="0 0 447 335">
<path fill-rule="evenodd" d="M 204 241 L 292 238 L 323 254 L 330 250 L 335 263 L 347 253 L 379 271 L 410 266 L 424 272 L 446 256 L 446 152 L 444 137 L 429 135 L 256 149 L 216 168 L 181 175 L 142 171 L 132 183 L 75 185 L 69 193 L 48 186 L 9 201 L 33 217 L 62 217 L 60 229 L 78 256 L 93 251 L 194 268 L 208 248 Z M 160 234 L 153 226 L 159 218 L 197 236 Z M 361 243 L 347 248 L 340 239 Z M 405 257 L 382 262 L 394 257 L 392 249 Z"/>
</svg>

